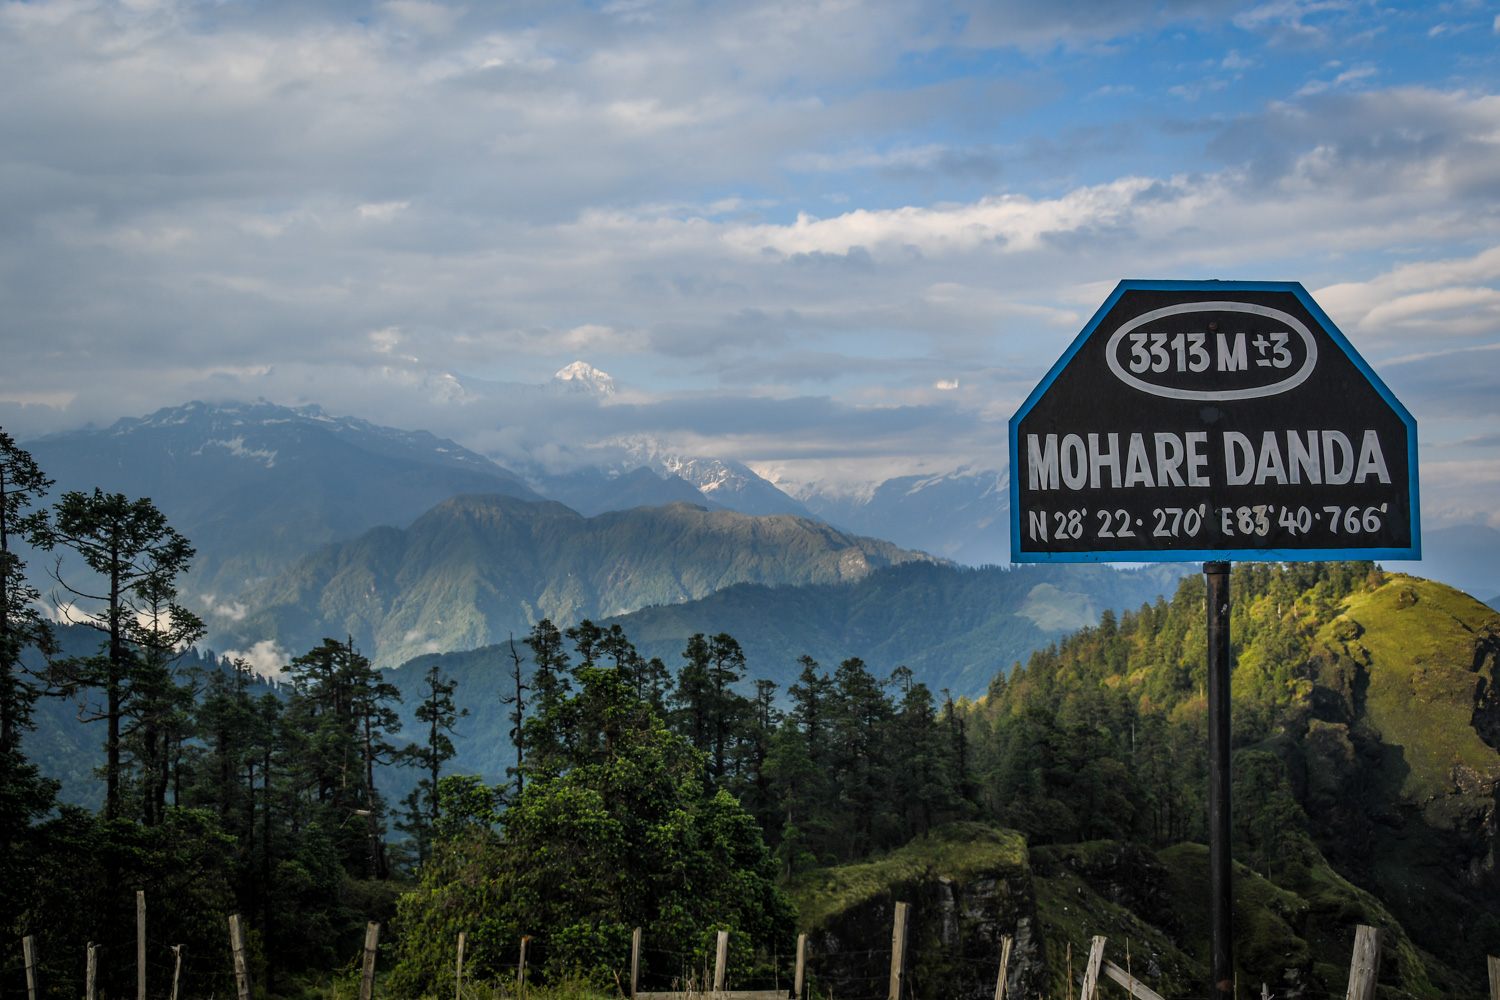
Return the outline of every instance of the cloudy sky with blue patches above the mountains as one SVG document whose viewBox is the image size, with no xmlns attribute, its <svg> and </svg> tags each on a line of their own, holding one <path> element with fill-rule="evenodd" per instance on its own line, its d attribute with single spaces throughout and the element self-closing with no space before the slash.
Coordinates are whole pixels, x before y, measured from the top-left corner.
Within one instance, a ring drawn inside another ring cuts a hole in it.
<svg viewBox="0 0 1500 1000">
<path fill-rule="evenodd" d="M 1120 279 L 1298 280 L 1500 528 L 1500 1 L 0 0 L 0 426 L 1005 465 Z M 519 391 L 564 366 L 609 396 Z"/>
</svg>

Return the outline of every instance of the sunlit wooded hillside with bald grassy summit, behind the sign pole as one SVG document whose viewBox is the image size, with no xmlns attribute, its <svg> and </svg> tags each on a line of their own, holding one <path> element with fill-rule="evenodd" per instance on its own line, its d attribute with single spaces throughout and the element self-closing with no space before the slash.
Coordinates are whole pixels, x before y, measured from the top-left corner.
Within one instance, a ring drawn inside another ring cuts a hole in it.
<svg viewBox="0 0 1500 1000">
<path fill-rule="evenodd" d="M 1316 912 L 1320 850 L 1431 960 L 1412 984 L 1474 976 L 1500 951 L 1500 615 L 1370 564 L 1242 564 L 1232 597 L 1236 861 Z M 1202 843 L 1203 648 L 1191 576 L 996 676 L 984 808 L 1032 844 Z"/>
</svg>

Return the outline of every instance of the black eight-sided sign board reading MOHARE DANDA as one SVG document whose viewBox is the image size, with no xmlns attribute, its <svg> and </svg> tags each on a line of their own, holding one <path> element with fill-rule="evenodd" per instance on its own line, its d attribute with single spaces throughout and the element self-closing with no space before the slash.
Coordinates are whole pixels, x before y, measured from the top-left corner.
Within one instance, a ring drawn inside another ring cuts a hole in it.
<svg viewBox="0 0 1500 1000">
<path fill-rule="evenodd" d="M 1420 559 L 1416 420 L 1296 282 L 1120 282 L 1011 418 L 1011 559 Z"/>
</svg>

